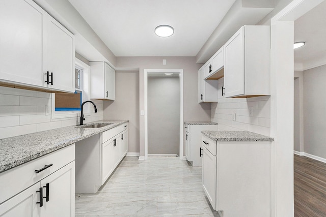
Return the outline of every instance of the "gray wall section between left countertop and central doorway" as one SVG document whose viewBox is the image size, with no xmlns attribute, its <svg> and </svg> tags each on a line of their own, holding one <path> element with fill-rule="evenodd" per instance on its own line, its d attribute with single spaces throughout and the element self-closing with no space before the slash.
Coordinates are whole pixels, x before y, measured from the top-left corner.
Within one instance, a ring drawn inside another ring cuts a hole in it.
<svg viewBox="0 0 326 217">
<path fill-rule="evenodd" d="M 103 101 L 103 119 L 128 119 L 128 152 L 139 152 L 138 71 L 116 71 L 116 101 Z"/>
</svg>

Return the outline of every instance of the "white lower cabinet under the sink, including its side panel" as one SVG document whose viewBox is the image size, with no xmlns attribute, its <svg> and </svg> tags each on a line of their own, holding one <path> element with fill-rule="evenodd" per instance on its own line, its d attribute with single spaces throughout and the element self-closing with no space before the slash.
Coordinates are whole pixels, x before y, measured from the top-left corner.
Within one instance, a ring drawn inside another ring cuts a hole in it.
<svg viewBox="0 0 326 217">
<path fill-rule="evenodd" d="M 76 193 L 95 194 L 127 152 L 128 123 L 76 142 Z"/>
</svg>

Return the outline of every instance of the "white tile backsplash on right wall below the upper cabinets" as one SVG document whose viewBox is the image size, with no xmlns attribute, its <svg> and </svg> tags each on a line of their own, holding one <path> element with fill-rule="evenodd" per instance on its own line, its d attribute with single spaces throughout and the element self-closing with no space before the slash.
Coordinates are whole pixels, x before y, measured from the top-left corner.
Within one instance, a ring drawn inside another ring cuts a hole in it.
<svg viewBox="0 0 326 217">
<path fill-rule="evenodd" d="M 219 123 L 219 130 L 246 130 L 269 136 L 270 96 L 224 98 L 222 86 L 223 78 L 219 79 L 219 102 L 211 103 L 211 121 Z"/>
</svg>

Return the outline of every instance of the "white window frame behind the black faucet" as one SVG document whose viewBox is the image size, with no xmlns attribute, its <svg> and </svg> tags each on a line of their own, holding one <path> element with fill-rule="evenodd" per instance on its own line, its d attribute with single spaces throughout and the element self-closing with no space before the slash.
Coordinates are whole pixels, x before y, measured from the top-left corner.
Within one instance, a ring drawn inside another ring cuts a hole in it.
<svg viewBox="0 0 326 217">
<path fill-rule="evenodd" d="M 84 63 L 82 60 L 75 58 L 75 68 L 83 71 L 83 93 L 82 93 L 82 102 L 90 100 L 90 66 Z M 75 81 L 74 81 L 75 82 Z M 80 90 L 80 89 L 76 89 Z M 55 102 L 55 94 L 51 94 L 51 118 L 58 119 L 58 118 L 76 118 L 80 117 L 80 110 L 73 110 L 73 111 L 56 111 L 56 102 Z M 85 104 L 83 108 L 84 116 L 90 116 L 90 105 Z"/>
</svg>

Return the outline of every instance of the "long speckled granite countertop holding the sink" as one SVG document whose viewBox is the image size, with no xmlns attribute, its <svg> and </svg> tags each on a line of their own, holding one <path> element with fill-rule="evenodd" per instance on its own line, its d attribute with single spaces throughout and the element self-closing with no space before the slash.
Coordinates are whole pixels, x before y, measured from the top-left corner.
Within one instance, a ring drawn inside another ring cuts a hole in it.
<svg viewBox="0 0 326 217">
<path fill-rule="evenodd" d="M 107 125 L 102 128 L 70 126 L 0 139 L 0 173 L 77 141 L 115 128 L 123 123 L 129 122 L 129 120 L 100 120 L 94 122 L 110 122 L 112 125 Z"/>
</svg>

